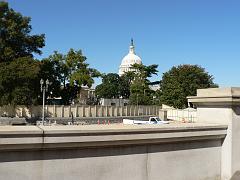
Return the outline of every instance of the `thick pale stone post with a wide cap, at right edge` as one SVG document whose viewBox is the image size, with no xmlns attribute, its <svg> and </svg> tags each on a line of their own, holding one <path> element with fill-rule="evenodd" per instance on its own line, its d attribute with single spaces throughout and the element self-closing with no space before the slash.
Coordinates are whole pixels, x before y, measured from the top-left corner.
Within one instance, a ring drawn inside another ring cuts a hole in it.
<svg viewBox="0 0 240 180">
<path fill-rule="evenodd" d="M 188 102 L 197 106 L 196 122 L 228 125 L 222 142 L 221 180 L 235 178 L 240 172 L 240 88 L 199 89 Z"/>
</svg>

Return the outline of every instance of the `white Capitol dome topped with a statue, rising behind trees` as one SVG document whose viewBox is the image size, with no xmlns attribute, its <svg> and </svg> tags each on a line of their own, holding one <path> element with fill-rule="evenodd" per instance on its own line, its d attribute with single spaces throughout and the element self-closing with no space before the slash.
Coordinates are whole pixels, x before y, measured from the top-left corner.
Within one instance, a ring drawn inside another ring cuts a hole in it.
<svg viewBox="0 0 240 180">
<path fill-rule="evenodd" d="M 142 60 L 139 56 L 135 54 L 133 40 L 131 40 L 129 53 L 122 59 L 122 63 L 119 67 L 119 75 L 121 76 L 128 71 L 134 71 L 134 69 L 131 69 L 130 67 L 136 63 L 142 64 Z"/>
</svg>

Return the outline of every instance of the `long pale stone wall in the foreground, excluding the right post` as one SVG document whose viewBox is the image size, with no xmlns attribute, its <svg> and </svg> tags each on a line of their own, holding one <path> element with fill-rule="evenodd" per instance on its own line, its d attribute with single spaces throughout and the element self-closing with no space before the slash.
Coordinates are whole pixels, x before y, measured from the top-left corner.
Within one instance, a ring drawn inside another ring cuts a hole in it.
<svg viewBox="0 0 240 180">
<path fill-rule="evenodd" d="M 220 179 L 227 126 L 0 127 L 0 179 Z"/>
</svg>

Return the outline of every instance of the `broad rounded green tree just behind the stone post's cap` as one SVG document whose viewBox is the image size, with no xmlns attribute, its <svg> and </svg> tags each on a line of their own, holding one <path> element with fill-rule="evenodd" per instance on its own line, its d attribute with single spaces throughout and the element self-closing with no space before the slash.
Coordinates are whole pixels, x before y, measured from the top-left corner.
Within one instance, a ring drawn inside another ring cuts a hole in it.
<svg viewBox="0 0 240 180">
<path fill-rule="evenodd" d="M 195 96 L 197 89 L 217 86 L 213 83 L 213 76 L 204 68 L 184 64 L 174 66 L 163 74 L 158 93 L 162 104 L 186 108 L 187 96 Z"/>
</svg>

